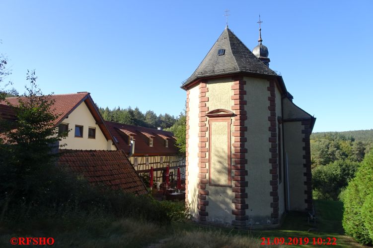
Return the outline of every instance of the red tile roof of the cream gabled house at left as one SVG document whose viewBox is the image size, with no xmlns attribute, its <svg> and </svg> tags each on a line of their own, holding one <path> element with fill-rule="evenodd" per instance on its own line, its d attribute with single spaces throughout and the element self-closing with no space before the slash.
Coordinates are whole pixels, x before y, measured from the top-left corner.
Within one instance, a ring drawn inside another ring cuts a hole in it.
<svg viewBox="0 0 373 248">
<path fill-rule="evenodd" d="M 88 92 L 74 93 L 74 94 L 62 94 L 62 95 L 51 95 L 44 96 L 50 97 L 54 100 L 52 105 L 52 112 L 59 115 L 55 120 L 55 126 L 59 125 L 66 117 L 74 111 L 74 109 L 83 101 L 90 110 L 93 118 L 96 120 L 97 125 L 100 127 L 102 133 L 104 134 L 106 140 L 112 140 L 109 130 L 107 129 L 104 120 L 102 119 L 93 99 L 90 97 Z M 6 100 L 13 106 L 19 105 L 19 99 L 25 100 L 25 97 L 16 97 L 16 98 L 7 98 Z M 1 101 L 0 104 L 4 104 L 4 101 Z"/>
</svg>

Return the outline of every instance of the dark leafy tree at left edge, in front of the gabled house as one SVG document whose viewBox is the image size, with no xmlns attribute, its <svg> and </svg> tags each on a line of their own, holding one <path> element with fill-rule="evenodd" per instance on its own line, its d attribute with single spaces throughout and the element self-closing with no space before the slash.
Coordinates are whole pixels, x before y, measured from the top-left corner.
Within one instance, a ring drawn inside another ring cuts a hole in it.
<svg viewBox="0 0 373 248">
<path fill-rule="evenodd" d="M 58 115 L 53 114 L 54 101 L 43 96 L 36 85 L 35 71 L 27 73 L 30 88 L 14 107 L 16 122 L 0 141 L 0 199 L 24 199 L 32 202 L 51 184 L 59 141 L 67 133 L 54 127 Z M 9 103 L 8 103 L 9 104 Z M 0 200 L 0 201 L 1 201 Z M 1 203 L 1 202 L 0 202 Z M 4 208 L 3 208 L 4 213 Z"/>
</svg>

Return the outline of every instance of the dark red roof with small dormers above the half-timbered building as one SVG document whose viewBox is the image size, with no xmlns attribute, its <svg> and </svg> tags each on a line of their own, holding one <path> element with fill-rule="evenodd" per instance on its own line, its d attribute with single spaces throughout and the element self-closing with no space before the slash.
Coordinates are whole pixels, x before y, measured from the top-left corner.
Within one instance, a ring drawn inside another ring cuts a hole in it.
<svg viewBox="0 0 373 248">
<path fill-rule="evenodd" d="M 139 127 L 126 125 L 111 121 L 105 121 L 106 126 L 109 128 L 111 135 L 118 141 L 116 145 L 119 149 L 122 149 L 128 154 L 130 152 L 130 146 L 128 144 L 128 135 L 122 132 L 121 129 L 130 131 L 136 136 L 135 139 L 135 155 L 145 154 L 177 154 L 179 153 L 175 146 L 176 139 L 173 134 L 164 130 L 157 130 L 147 127 Z M 168 147 L 165 146 L 165 140 L 163 137 L 168 137 Z M 153 138 L 153 146 L 149 147 L 149 137 Z M 114 141 L 115 141 L 114 139 Z"/>
</svg>

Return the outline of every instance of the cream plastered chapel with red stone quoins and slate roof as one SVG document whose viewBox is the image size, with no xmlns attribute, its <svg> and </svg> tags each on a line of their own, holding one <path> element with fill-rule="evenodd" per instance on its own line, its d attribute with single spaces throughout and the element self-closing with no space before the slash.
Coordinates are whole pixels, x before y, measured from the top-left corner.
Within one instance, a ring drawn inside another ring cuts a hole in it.
<svg viewBox="0 0 373 248">
<path fill-rule="evenodd" d="M 274 226 L 286 210 L 312 207 L 315 118 L 292 102 L 282 77 L 268 67 L 268 50 L 261 53 L 261 41 L 258 46 L 265 56 L 255 56 L 226 27 L 181 87 L 187 92 L 186 200 L 197 221 Z"/>
</svg>

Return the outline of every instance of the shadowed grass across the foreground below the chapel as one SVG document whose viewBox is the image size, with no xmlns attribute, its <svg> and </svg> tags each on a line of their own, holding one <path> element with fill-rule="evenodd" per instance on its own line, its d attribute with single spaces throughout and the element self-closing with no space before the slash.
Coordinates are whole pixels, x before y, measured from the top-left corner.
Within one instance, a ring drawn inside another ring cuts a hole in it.
<svg viewBox="0 0 373 248">
<path fill-rule="evenodd" d="M 172 222 L 170 226 L 158 226 L 134 219 L 105 219 L 85 216 L 70 219 L 43 220 L 6 227 L 0 224 L 0 247 L 12 247 L 12 237 L 53 237 L 54 247 L 111 248 L 224 248 L 224 247 L 266 247 L 260 245 L 261 238 L 312 238 L 335 237 L 333 247 L 363 247 L 344 235 L 341 225 L 342 203 L 339 201 L 315 200 L 316 226 L 307 224 L 304 213 L 290 213 L 279 229 L 237 230 L 216 226 L 200 225 L 192 221 Z M 310 228 L 316 230 L 308 231 Z M 288 247 L 315 247 L 292 245 Z M 276 247 L 276 246 L 267 246 Z M 285 247 L 285 246 L 283 246 Z"/>
</svg>

